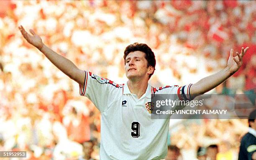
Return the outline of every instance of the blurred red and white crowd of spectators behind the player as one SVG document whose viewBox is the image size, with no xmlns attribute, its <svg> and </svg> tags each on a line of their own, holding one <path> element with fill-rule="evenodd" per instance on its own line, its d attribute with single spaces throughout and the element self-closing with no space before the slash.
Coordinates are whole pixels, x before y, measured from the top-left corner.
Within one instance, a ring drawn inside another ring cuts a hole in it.
<svg viewBox="0 0 256 160">
<path fill-rule="evenodd" d="M 123 51 L 134 42 L 156 55 L 155 87 L 195 83 L 225 68 L 231 48 L 249 46 L 238 73 L 210 93 L 255 93 L 254 1 L 1 1 L 0 150 L 27 151 L 28 160 L 99 159 L 100 112 L 19 25 L 79 69 L 120 84 Z M 217 146 L 217 160 L 234 160 L 247 125 L 171 120 L 169 149 L 194 160 Z"/>
</svg>

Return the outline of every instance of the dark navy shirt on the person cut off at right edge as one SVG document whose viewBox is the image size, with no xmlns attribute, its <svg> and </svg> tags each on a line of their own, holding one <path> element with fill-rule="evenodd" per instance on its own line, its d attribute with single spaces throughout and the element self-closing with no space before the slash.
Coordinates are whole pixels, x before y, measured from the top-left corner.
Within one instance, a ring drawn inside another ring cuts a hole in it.
<svg viewBox="0 0 256 160">
<path fill-rule="evenodd" d="M 250 128 L 253 130 L 252 128 Z M 255 130 L 254 130 L 255 133 Z M 250 132 L 242 137 L 238 160 L 252 160 L 252 155 L 256 151 L 256 137 Z"/>
</svg>

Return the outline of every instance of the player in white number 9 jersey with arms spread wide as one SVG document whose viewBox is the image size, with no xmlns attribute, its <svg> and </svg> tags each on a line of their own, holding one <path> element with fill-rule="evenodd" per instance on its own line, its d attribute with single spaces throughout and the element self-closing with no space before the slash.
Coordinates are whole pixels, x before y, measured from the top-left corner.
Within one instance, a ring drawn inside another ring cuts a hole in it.
<svg viewBox="0 0 256 160">
<path fill-rule="evenodd" d="M 100 158 L 102 160 L 159 160 L 167 154 L 170 119 L 151 119 L 148 112 L 151 94 L 176 94 L 179 99 L 204 94 L 232 76 L 242 64 L 247 48 L 233 57 L 230 50 L 227 67 L 216 74 L 185 86 L 154 88 L 148 80 L 154 74 L 156 59 L 146 44 L 133 43 L 125 48 L 125 84 L 115 84 L 90 71 L 82 71 L 71 61 L 55 53 L 33 30 L 23 37 L 38 48 L 58 69 L 79 84 L 80 95 L 88 97 L 101 113 Z M 86 62 L 85 62 L 86 63 Z"/>
</svg>

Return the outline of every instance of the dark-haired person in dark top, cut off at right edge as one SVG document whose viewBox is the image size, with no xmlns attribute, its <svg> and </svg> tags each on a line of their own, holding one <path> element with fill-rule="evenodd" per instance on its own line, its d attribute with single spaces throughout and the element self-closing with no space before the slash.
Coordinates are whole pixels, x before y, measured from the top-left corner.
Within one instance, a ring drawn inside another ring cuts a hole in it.
<svg viewBox="0 0 256 160">
<path fill-rule="evenodd" d="M 256 160 L 256 110 L 248 118 L 249 131 L 241 139 L 238 160 Z"/>
</svg>

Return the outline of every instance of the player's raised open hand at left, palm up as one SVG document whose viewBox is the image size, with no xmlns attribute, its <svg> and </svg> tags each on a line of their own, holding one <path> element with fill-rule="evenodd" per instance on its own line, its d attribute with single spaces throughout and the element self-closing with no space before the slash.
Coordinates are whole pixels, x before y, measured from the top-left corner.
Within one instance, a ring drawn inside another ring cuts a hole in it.
<svg viewBox="0 0 256 160">
<path fill-rule="evenodd" d="M 19 29 L 22 36 L 28 41 L 28 43 L 32 44 L 38 49 L 41 49 L 43 47 L 43 41 L 41 37 L 38 36 L 32 29 L 29 30 L 32 36 L 28 34 L 28 32 L 26 32 L 22 25 L 19 26 Z"/>
</svg>

